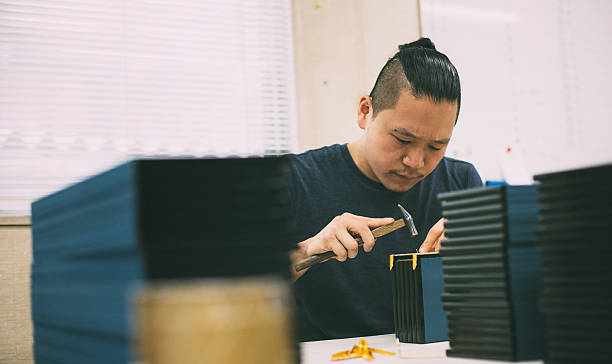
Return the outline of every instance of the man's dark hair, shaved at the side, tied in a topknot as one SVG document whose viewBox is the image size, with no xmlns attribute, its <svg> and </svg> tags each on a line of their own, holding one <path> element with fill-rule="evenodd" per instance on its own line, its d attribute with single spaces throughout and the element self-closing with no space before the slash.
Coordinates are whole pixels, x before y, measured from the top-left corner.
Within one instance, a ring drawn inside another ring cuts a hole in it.
<svg viewBox="0 0 612 364">
<path fill-rule="evenodd" d="M 428 97 L 437 103 L 457 102 L 459 117 L 459 73 L 448 57 L 436 51 L 429 38 L 400 45 L 399 52 L 387 61 L 370 92 L 372 116 L 394 108 L 402 90 L 410 91 L 415 97 Z"/>
</svg>

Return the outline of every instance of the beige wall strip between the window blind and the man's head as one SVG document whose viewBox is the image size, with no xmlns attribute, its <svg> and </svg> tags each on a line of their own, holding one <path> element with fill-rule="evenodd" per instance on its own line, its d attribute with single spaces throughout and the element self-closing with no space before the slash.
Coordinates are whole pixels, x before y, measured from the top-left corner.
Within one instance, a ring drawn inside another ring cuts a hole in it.
<svg viewBox="0 0 612 364">
<path fill-rule="evenodd" d="M 299 151 L 359 137 L 359 98 L 419 37 L 418 14 L 418 0 L 293 1 Z"/>
</svg>

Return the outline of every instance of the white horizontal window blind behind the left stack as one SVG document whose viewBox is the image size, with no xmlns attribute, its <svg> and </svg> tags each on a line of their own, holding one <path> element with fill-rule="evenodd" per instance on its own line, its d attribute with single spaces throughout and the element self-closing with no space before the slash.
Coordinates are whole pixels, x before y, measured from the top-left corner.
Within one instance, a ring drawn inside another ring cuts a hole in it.
<svg viewBox="0 0 612 364">
<path fill-rule="evenodd" d="M 142 156 L 297 147 L 289 0 L 0 0 L 0 214 Z"/>
</svg>

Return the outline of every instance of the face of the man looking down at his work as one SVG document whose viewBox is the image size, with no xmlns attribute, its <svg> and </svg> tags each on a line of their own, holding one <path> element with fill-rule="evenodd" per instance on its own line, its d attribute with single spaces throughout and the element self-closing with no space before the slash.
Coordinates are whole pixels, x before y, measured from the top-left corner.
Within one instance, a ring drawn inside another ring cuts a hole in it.
<svg viewBox="0 0 612 364">
<path fill-rule="evenodd" d="M 364 99 L 362 99 L 363 104 Z M 402 91 L 395 108 L 363 115 L 365 139 L 361 168 L 371 179 L 396 192 L 407 191 L 438 165 L 453 134 L 457 103 L 436 103 Z M 359 165 L 359 162 L 358 162 Z"/>
</svg>

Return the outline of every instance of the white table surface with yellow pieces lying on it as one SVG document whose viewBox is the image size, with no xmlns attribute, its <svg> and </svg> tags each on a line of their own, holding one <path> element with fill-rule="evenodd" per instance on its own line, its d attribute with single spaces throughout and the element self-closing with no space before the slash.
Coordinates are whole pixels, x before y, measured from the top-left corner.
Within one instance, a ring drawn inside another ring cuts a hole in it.
<svg viewBox="0 0 612 364">
<path fill-rule="evenodd" d="M 353 345 L 359 343 L 359 337 L 349 339 L 336 339 L 336 340 L 321 340 L 321 341 L 308 341 L 300 343 L 302 350 L 302 364 L 321 364 L 321 363 L 332 363 L 332 354 L 340 351 L 351 350 Z M 398 344 L 395 340 L 394 334 L 389 335 L 377 335 L 377 336 L 365 336 L 364 339 L 368 343 L 369 347 L 382 349 L 394 352 L 395 355 L 377 354 L 374 353 L 374 360 L 368 362 L 363 358 L 348 359 L 335 361 L 333 363 L 372 363 L 372 364 L 383 364 L 383 363 L 414 363 L 414 364 L 500 364 L 505 363 L 502 361 L 490 361 L 490 360 L 479 360 L 479 359 L 460 359 L 460 358 L 447 358 L 446 349 L 448 349 L 448 341 L 432 344 Z M 530 361 L 521 362 L 522 364 L 536 364 L 542 363 L 541 361 Z"/>
</svg>

